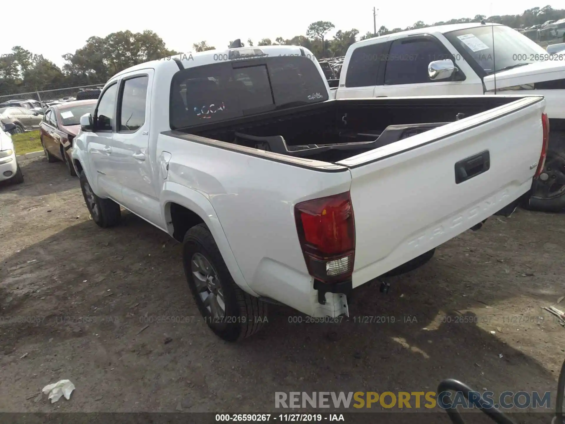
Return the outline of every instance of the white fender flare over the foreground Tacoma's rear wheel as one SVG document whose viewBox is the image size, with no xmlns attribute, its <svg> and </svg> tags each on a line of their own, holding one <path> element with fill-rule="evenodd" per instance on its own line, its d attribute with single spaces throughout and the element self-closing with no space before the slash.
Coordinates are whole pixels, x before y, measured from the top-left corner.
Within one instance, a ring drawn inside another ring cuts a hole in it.
<svg viewBox="0 0 565 424">
<path fill-rule="evenodd" d="M 214 241 L 216 245 L 218 245 L 221 257 L 224 259 L 225 265 L 228 267 L 234 282 L 246 293 L 249 293 L 251 296 L 259 297 L 259 295 L 249 287 L 249 284 L 247 284 L 236 257 L 233 254 L 232 248 L 229 245 L 228 238 L 225 236 L 218 215 L 216 215 L 214 207 L 206 196 L 191 188 L 166 181 L 160 193 L 159 203 L 163 222 L 166 224 L 167 232 L 171 237 L 174 231 L 171 221 L 171 203 L 184 206 L 186 209 L 197 214 L 212 233 L 212 237 L 214 237 Z"/>
</svg>

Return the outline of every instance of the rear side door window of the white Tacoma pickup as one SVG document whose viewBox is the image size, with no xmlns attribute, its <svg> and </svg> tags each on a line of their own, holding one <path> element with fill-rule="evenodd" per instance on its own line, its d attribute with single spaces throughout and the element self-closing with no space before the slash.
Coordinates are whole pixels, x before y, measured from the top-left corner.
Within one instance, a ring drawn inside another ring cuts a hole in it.
<svg viewBox="0 0 565 424">
<path fill-rule="evenodd" d="M 122 84 L 119 131 L 137 131 L 145 123 L 148 85 L 147 75 L 125 80 Z"/>
</svg>

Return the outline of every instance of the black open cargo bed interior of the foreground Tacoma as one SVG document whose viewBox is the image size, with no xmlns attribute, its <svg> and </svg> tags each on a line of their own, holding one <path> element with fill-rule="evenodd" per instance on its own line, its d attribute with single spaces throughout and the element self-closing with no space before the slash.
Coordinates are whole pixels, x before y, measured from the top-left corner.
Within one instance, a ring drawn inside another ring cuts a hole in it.
<svg viewBox="0 0 565 424">
<path fill-rule="evenodd" d="M 520 97 L 415 97 L 330 100 L 180 130 L 208 139 L 335 163 Z"/>
</svg>

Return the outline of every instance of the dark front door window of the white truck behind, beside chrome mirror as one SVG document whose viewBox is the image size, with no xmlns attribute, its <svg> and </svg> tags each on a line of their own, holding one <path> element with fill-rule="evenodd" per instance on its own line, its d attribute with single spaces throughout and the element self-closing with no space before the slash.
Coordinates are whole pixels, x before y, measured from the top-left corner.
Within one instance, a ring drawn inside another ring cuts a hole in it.
<svg viewBox="0 0 565 424">
<path fill-rule="evenodd" d="M 444 59 L 451 57 L 436 41 L 421 38 L 394 40 L 386 57 L 385 85 L 432 83 L 428 65 Z"/>
</svg>

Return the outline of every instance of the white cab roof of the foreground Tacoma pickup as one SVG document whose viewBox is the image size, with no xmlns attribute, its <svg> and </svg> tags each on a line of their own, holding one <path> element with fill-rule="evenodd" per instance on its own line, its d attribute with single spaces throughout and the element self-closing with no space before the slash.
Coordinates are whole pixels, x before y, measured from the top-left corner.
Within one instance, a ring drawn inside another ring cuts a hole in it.
<svg viewBox="0 0 565 424">
<path fill-rule="evenodd" d="M 108 80 L 108 82 L 114 80 L 116 77 L 119 77 L 120 75 L 123 75 L 124 73 L 129 73 L 132 71 L 137 71 L 147 68 L 153 68 L 155 69 L 155 71 L 157 71 L 159 68 L 171 68 L 171 67 L 177 68 L 178 65 L 175 63 L 176 62 L 175 59 L 180 60 L 182 66 L 184 66 L 185 68 L 191 68 L 194 66 L 202 66 L 220 61 L 221 62 L 231 61 L 232 59 L 228 59 L 228 55 L 230 51 L 237 50 L 241 54 L 249 55 L 252 54 L 251 50 L 257 50 L 257 49 L 263 51 L 263 53 L 268 54 L 269 56 L 302 55 L 301 52 L 302 50 L 306 56 L 311 55 L 311 57 L 314 57 L 314 55 L 311 53 L 310 50 L 306 49 L 306 47 L 301 47 L 301 46 L 253 46 L 253 47 L 250 46 L 250 47 L 237 47 L 234 49 L 225 48 L 219 50 L 207 50 L 207 51 L 197 51 L 197 52 L 189 51 L 187 53 L 177 53 L 175 55 L 163 59 L 151 60 L 150 62 L 134 65 L 132 67 L 129 67 L 127 69 L 124 69 L 123 71 L 116 73 L 114 76 L 111 77 L 110 80 Z M 219 58 L 220 55 L 221 58 Z"/>
</svg>

